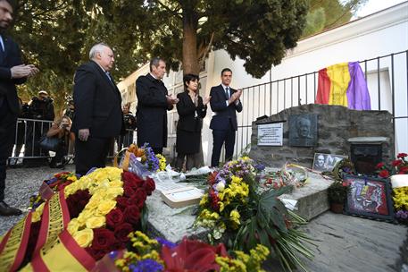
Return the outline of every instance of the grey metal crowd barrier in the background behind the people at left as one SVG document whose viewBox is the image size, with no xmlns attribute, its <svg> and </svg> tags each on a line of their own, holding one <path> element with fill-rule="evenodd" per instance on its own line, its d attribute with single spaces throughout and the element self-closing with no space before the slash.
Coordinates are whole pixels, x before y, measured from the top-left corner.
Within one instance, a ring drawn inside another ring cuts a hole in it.
<svg viewBox="0 0 408 272">
<path fill-rule="evenodd" d="M 14 147 L 12 149 L 12 156 L 8 158 L 10 166 L 29 165 L 31 162 L 38 160 L 39 165 L 48 163 L 48 159 L 54 156 L 53 151 L 41 149 L 39 140 L 46 135 L 50 129 L 53 121 L 18 118 Z M 112 142 L 112 149 L 110 149 L 108 157 L 114 157 L 114 154 L 123 147 L 128 147 L 134 142 L 135 131 L 127 130 L 124 136 L 118 136 Z M 68 154 L 64 157 L 66 161 L 70 162 L 75 157 L 74 143 L 70 142 Z"/>
</svg>

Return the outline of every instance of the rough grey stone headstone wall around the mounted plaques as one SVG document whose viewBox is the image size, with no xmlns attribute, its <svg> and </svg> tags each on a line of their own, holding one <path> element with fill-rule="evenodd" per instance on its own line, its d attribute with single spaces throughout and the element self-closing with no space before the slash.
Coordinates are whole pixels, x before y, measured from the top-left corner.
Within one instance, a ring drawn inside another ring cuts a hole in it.
<svg viewBox="0 0 408 272">
<path fill-rule="evenodd" d="M 288 120 L 290 115 L 318 115 L 318 140 L 312 148 L 288 146 Z M 257 146 L 257 124 L 283 124 L 282 147 Z M 350 156 L 350 143 L 353 137 L 387 137 L 382 144 L 383 161 L 394 156 L 394 125 L 392 115 L 387 111 L 357 111 L 345 106 L 309 104 L 287 108 L 277 115 L 252 123 L 252 147 L 249 156 L 266 166 L 280 167 L 288 162 L 297 162 L 312 167 L 314 153 L 328 153 Z"/>
</svg>

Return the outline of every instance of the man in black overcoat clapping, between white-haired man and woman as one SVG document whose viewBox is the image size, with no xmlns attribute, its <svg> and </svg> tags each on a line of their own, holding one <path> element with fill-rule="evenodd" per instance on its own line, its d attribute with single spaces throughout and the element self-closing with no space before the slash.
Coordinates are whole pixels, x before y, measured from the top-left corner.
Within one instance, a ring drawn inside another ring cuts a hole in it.
<svg viewBox="0 0 408 272">
<path fill-rule="evenodd" d="M 179 98 L 170 95 L 162 82 L 166 72 L 166 63 L 159 57 L 150 61 L 150 72 L 138 77 L 137 94 L 137 145 L 146 142 L 155 154 L 162 154 L 167 146 L 167 113 Z"/>
</svg>

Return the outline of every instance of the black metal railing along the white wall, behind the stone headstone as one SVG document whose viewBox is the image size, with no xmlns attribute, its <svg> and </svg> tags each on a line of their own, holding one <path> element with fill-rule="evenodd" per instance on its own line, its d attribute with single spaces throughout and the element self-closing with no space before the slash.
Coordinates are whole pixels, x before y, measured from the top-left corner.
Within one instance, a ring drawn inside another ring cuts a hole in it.
<svg viewBox="0 0 408 272">
<path fill-rule="evenodd" d="M 394 116 L 396 143 L 408 149 L 408 50 L 378 56 L 360 62 L 371 96 L 372 110 L 387 110 Z M 262 115 L 302 104 L 314 103 L 319 72 L 309 72 L 278 81 L 244 88 L 241 101 L 244 109 L 237 115 L 238 130 L 234 155 L 251 143 L 252 122 Z M 404 150 L 405 149 L 405 150 Z"/>
</svg>

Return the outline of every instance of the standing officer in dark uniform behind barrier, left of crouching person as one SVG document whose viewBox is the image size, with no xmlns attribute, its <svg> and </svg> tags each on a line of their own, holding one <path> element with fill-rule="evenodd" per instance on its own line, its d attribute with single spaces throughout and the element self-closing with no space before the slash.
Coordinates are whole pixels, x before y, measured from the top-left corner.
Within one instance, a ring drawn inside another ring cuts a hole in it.
<svg viewBox="0 0 408 272">
<path fill-rule="evenodd" d="M 42 150 L 39 146 L 41 136 L 46 134 L 50 129 L 51 122 L 54 120 L 54 103 L 53 99 L 49 98 L 46 90 L 38 91 L 38 96 L 29 101 L 29 119 L 38 121 L 27 121 L 27 137 L 24 148 L 24 166 L 44 166 L 47 162 L 48 151 Z"/>
</svg>

